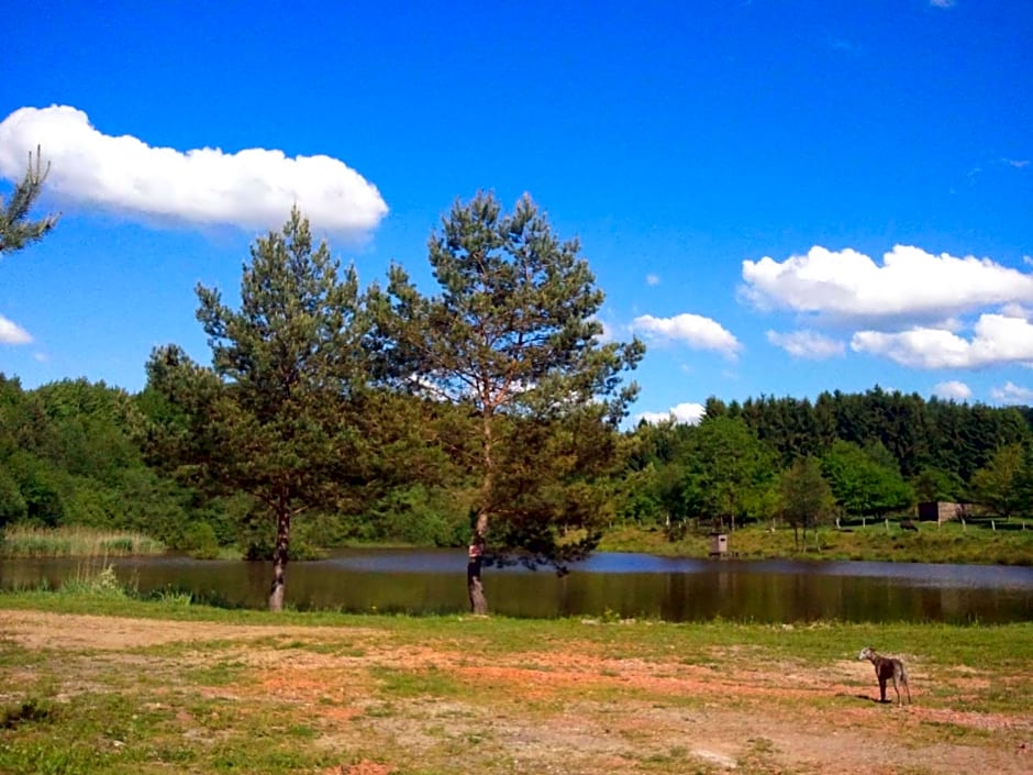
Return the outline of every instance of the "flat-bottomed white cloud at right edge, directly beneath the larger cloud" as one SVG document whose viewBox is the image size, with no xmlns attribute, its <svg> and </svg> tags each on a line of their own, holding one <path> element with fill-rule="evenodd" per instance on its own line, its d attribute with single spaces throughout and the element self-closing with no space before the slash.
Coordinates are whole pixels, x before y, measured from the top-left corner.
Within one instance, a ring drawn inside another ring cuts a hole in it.
<svg viewBox="0 0 1033 775">
<path fill-rule="evenodd" d="M 858 331 L 851 340 L 858 353 L 880 355 L 913 368 L 978 368 L 1033 362 L 1033 325 L 1003 314 L 984 314 L 971 340 L 943 329 L 915 328 L 899 333 Z"/>
</svg>

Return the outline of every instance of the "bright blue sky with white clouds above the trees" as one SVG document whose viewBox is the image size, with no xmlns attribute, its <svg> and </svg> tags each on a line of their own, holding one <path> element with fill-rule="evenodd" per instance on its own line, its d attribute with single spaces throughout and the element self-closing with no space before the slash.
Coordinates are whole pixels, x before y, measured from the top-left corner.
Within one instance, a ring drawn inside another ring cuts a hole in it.
<svg viewBox="0 0 1033 775">
<path fill-rule="evenodd" d="M 49 2 L 7 36 L 0 193 L 42 144 L 43 242 L 0 261 L 0 372 L 131 391 L 209 362 L 292 201 L 364 283 L 426 291 L 478 189 L 578 236 L 633 416 L 887 389 L 1033 403 L 1033 4 Z"/>
</svg>

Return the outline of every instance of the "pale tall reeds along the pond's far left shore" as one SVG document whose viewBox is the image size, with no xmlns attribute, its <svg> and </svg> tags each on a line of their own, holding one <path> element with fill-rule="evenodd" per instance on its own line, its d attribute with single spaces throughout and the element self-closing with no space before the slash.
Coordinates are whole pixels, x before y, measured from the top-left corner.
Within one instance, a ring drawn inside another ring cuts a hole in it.
<svg viewBox="0 0 1033 775">
<path fill-rule="evenodd" d="M 0 539 L 3 557 L 124 557 L 163 554 L 165 544 L 141 533 L 95 528 L 8 528 Z"/>
</svg>

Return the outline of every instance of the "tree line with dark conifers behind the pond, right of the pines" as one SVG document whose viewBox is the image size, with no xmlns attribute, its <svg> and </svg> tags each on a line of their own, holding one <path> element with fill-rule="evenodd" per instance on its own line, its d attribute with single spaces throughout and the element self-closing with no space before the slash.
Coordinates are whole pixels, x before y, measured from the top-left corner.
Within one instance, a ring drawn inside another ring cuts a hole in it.
<svg viewBox="0 0 1033 775">
<path fill-rule="evenodd" d="M 624 520 L 669 531 L 795 528 L 914 514 L 922 501 L 1033 512 L 1033 435 L 1025 407 L 917 394 L 823 392 L 813 402 L 710 398 L 698 425 L 642 423 L 618 498 Z"/>
</svg>

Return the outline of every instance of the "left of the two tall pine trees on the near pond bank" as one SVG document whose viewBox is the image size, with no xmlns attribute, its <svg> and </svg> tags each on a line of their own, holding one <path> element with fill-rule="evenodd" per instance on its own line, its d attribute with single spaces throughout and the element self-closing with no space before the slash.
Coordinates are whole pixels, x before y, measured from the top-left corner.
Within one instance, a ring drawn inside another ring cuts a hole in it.
<svg viewBox="0 0 1033 775">
<path fill-rule="evenodd" d="M 169 405 L 159 435 L 198 481 L 267 507 L 276 534 L 269 609 L 280 610 L 293 518 L 338 505 L 369 458 L 356 425 L 368 332 L 358 279 L 354 268 L 342 277 L 325 243 L 313 248 L 295 209 L 281 233 L 252 247 L 238 310 L 215 289 L 197 294 L 212 368 L 175 346 L 152 354 L 148 387 Z"/>
</svg>

